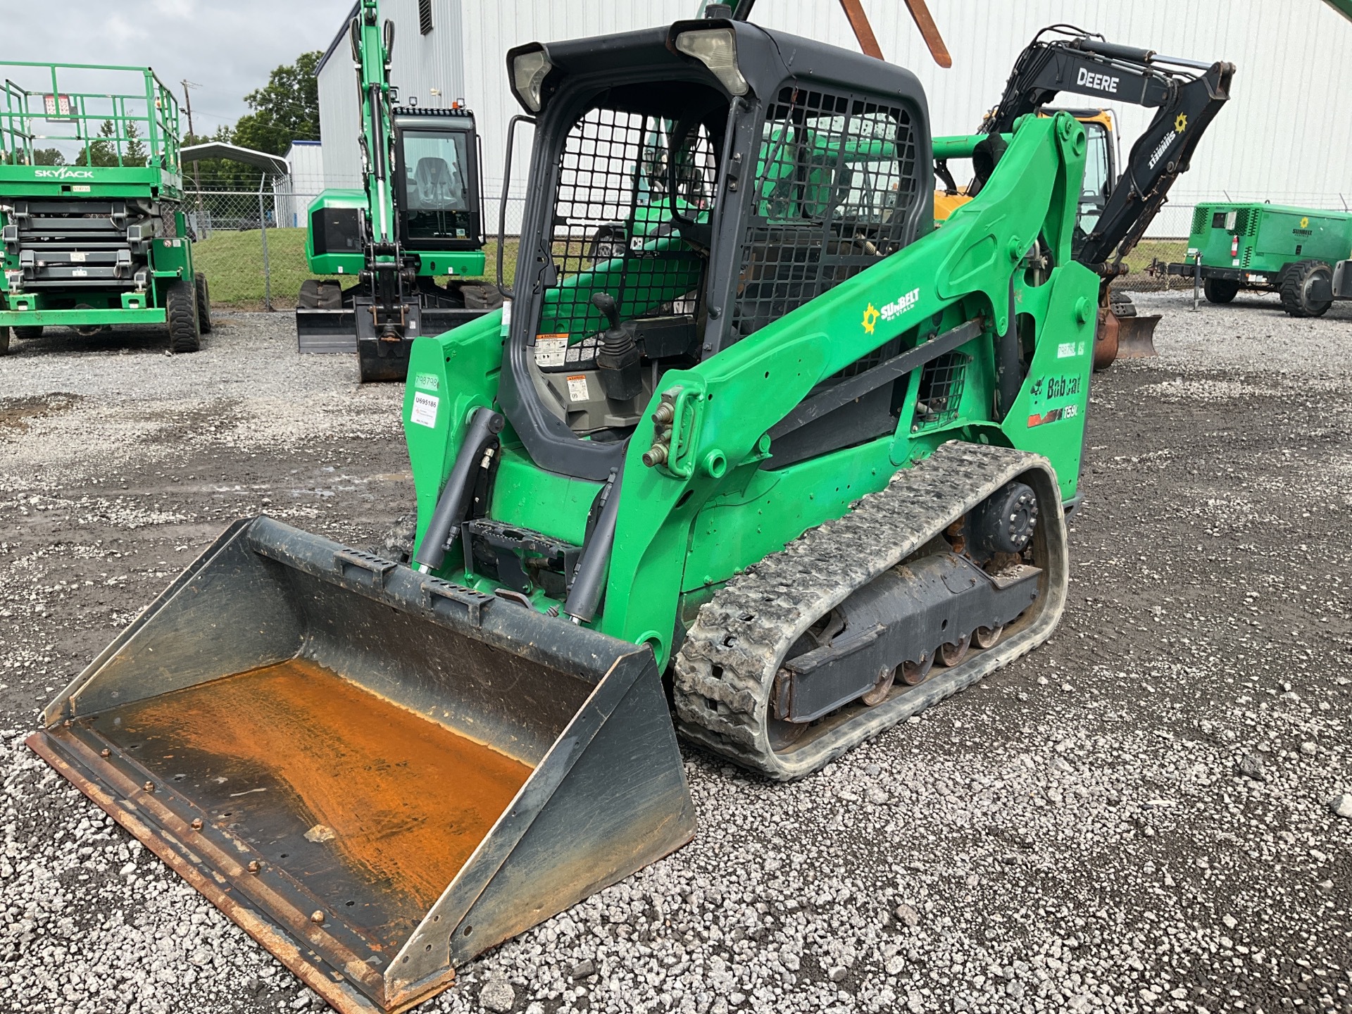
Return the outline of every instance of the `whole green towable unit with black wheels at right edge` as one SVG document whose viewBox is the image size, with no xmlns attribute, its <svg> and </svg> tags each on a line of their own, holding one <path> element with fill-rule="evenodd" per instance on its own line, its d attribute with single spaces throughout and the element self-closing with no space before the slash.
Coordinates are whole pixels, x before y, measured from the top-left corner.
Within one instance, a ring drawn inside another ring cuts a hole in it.
<svg viewBox="0 0 1352 1014">
<path fill-rule="evenodd" d="M 1187 254 L 1165 270 L 1199 279 L 1211 303 L 1276 292 L 1287 314 L 1320 316 L 1352 297 L 1352 272 L 1340 270 L 1348 257 L 1352 212 L 1225 201 L 1197 206 Z"/>
</svg>

